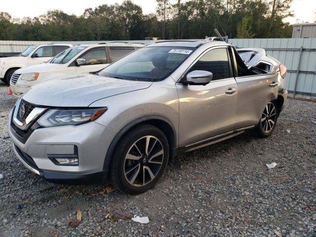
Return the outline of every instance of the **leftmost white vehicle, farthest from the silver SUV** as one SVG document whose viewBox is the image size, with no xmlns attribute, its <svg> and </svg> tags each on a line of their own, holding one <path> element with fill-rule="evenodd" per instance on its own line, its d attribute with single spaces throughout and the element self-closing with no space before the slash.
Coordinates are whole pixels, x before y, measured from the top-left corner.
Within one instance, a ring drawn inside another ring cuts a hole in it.
<svg viewBox="0 0 316 237">
<path fill-rule="evenodd" d="M 1 58 L 0 79 L 4 83 L 9 84 L 10 79 L 16 70 L 47 62 L 56 54 L 72 46 L 72 44 L 30 45 L 20 54 L 20 56 Z"/>
</svg>

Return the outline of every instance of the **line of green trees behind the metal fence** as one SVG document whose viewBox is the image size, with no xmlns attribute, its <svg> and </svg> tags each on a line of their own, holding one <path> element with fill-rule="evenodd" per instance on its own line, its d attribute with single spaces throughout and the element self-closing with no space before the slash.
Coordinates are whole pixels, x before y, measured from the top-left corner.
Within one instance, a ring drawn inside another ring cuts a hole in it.
<svg viewBox="0 0 316 237">
<path fill-rule="evenodd" d="M 87 8 L 80 16 L 51 10 L 39 17 L 0 12 L 0 40 L 204 39 L 217 28 L 229 38 L 290 38 L 292 0 L 157 0 L 157 11 L 125 0 Z"/>
</svg>

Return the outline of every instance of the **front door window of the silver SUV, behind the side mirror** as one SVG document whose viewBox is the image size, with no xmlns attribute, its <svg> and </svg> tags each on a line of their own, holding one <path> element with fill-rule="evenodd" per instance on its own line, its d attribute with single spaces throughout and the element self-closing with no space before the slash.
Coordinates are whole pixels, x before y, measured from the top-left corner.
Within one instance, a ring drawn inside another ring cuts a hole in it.
<svg viewBox="0 0 316 237">
<path fill-rule="evenodd" d="M 216 48 L 205 53 L 190 69 L 208 71 L 213 74 L 212 80 L 231 78 L 227 48 Z"/>
</svg>

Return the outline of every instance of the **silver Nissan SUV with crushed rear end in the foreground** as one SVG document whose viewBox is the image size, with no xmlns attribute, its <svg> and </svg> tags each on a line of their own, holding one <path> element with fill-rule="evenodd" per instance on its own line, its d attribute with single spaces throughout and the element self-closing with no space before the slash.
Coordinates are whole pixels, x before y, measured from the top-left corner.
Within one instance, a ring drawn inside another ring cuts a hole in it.
<svg viewBox="0 0 316 237">
<path fill-rule="evenodd" d="M 272 134 L 286 69 L 262 55 L 260 67 L 246 66 L 223 41 L 161 41 L 98 75 L 39 83 L 11 111 L 15 154 L 51 182 L 110 180 L 124 193 L 144 192 L 181 152 L 247 129 Z"/>
</svg>

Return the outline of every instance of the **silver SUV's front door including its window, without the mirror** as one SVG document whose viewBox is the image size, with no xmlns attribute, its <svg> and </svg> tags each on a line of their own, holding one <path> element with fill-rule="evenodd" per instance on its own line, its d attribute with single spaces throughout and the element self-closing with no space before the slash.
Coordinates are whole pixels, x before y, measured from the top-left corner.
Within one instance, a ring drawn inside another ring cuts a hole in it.
<svg viewBox="0 0 316 237">
<path fill-rule="evenodd" d="M 211 72 L 213 78 L 207 85 L 176 85 L 180 146 L 229 132 L 235 124 L 237 84 L 227 47 L 204 52 L 187 73 L 195 70 Z"/>
</svg>

